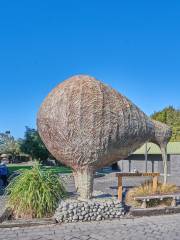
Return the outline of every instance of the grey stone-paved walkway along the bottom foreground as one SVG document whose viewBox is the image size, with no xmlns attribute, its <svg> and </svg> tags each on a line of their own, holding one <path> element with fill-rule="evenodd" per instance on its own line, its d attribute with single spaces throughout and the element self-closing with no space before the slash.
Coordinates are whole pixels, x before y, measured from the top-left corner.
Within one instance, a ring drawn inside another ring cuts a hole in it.
<svg viewBox="0 0 180 240">
<path fill-rule="evenodd" d="M 180 214 L 0 229 L 0 240 L 180 239 Z"/>
</svg>

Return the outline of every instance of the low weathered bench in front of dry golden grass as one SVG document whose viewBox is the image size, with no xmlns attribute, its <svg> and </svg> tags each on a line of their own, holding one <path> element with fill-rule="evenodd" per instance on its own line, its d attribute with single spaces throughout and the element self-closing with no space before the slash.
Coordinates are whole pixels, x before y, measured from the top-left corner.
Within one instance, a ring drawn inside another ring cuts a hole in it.
<svg viewBox="0 0 180 240">
<path fill-rule="evenodd" d="M 167 199 L 167 198 L 172 198 L 171 207 L 175 207 L 177 205 L 176 200 L 180 199 L 180 193 L 134 197 L 134 200 L 142 201 L 141 208 L 146 208 L 147 202 L 149 202 L 151 199 L 159 199 L 160 201 L 162 201 L 163 199 Z"/>
</svg>

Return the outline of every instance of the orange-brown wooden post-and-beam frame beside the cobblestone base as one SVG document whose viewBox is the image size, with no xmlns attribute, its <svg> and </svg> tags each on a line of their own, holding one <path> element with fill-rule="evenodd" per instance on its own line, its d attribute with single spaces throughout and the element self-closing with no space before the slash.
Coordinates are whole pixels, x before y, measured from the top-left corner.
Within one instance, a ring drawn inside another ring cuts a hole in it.
<svg viewBox="0 0 180 240">
<path fill-rule="evenodd" d="M 152 177 L 153 178 L 153 192 L 157 190 L 158 177 L 160 173 L 116 173 L 118 177 L 118 200 L 122 202 L 122 178 L 123 177 Z"/>
</svg>

